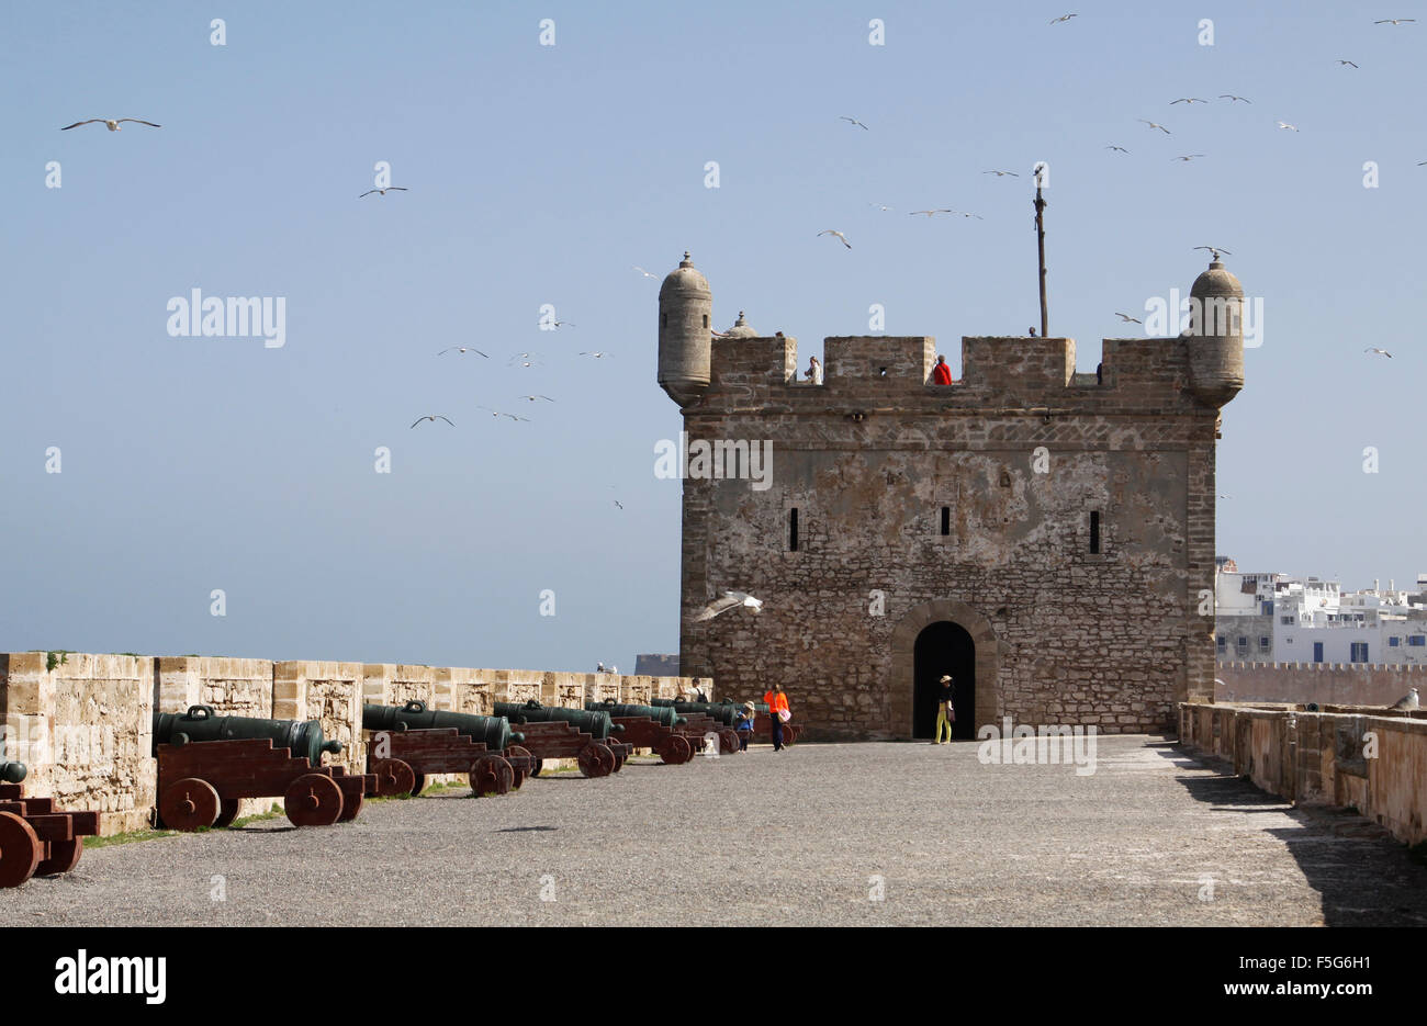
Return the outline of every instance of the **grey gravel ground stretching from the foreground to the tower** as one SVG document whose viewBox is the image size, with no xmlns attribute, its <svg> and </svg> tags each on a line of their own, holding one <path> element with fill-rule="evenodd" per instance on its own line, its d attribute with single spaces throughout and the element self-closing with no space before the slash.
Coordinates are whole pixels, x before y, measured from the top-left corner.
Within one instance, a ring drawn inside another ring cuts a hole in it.
<svg viewBox="0 0 1427 1026">
<path fill-rule="evenodd" d="M 932 748 L 755 746 L 504 798 L 371 802 L 325 829 L 100 848 L 0 890 L 0 920 L 1427 925 L 1427 868 L 1403 845 L 1337 836 L 1159 738 L 1100 738 L 1087 776 Z"/>
</svg>

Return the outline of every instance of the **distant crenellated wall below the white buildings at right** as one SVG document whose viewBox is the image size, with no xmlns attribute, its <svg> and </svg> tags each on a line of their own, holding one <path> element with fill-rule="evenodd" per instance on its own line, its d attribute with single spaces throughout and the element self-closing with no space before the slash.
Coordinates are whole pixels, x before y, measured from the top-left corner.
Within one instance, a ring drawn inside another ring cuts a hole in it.
<svg viewBox="0 0 1427 1026">
<path fill-rule="evenodd" d="M 1391 705 L 1417 688 L 1427 698 L 1427 666 L 1363 662 L 1220 662 L 1216 702 Z"/>
</svg>

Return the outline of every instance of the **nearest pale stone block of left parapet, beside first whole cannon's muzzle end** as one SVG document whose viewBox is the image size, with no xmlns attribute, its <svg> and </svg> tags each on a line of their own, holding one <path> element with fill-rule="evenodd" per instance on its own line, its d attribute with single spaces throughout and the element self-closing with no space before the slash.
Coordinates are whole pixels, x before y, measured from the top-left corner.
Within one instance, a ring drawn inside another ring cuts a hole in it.
<svg viewBox="0 0 1427 1026">
<path fill-rule="evenodd" d="M 26 793 L 60 809 L 101 812 L 106 835 L 148 825 L 157 785 L 154 661 L 70 652 L 0 655 L 6 758 L 24 762 Z"/>
</svg>

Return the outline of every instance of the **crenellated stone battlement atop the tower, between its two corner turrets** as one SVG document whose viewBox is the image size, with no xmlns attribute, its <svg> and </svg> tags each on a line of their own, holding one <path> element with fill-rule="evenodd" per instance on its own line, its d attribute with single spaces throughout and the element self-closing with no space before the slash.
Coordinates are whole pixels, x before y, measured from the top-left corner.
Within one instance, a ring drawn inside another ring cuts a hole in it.
<svg viewBox="0 0 1427 1026">
<path fill-rule="evenodd" d="M 962 377 L 932 384 L 939 350 L 930 335 L 836 335 L 823 340 L 815 385 L 786 335 L 719 338 L 702 408 L 785 405 L 816 394 L 869 405 L 1136 407 L 1207 412 L 1190 391 L 1189 340 L 1106 338 L 1099 374 L 1076 372 L 1073 338 L 962 338 Z"/>
</svg>

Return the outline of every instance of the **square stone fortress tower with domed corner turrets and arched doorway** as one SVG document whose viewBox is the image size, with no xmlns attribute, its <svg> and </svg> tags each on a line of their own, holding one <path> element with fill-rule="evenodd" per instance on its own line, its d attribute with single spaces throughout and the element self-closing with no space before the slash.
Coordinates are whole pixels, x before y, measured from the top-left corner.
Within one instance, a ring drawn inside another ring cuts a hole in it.
<svg viewBox="0 0 1427 1026">
<path fill-rule="evenodd" d="M 1173 729 L 1213 695 L 1214 440 L 1243 388 L 1243 290 L 1214 255 L 1189 330 L 1107 338 L 1099 374 L 1072 338 L 969 337 L 933 385 L 933 338 L 852 335 L 815 385 L 795 338 L 742 314 L 712 337 L 685 254 L 659 384 L 691 451 L 766 440 L 772 472 L 684 481 L 681 672 L 741 701 L 782 682 L 823 739 L 930 738 L 942 674 L 963 738 Z M 731 589 L 762 612 L 698 619 Z"/>
</svg>

